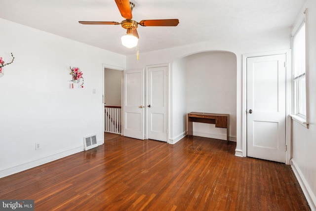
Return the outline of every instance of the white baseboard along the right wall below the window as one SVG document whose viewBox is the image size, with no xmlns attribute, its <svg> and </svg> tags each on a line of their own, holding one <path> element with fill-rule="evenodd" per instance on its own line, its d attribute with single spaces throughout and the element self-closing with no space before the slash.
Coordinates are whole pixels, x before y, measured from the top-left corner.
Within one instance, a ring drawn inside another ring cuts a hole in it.
<svg viewBox="0 0 316 211">
<path fill-rule="evenodd" d="M 303 190 L 303 193 L 305 195 L 305 198 L 306 198 L 311 210 L 316 211 L 316 197 L 313 194 L 311 187 L 307 183 L 302 171 L 300 170 L 300 168 L 298 167 L 296 162 L 292 159 L 291 163 L 292 163 L 291 167 L 294 171 L 294 174 L 295 174 L 298 182 L 300 183 L 300 186 Z"/>
</svg>

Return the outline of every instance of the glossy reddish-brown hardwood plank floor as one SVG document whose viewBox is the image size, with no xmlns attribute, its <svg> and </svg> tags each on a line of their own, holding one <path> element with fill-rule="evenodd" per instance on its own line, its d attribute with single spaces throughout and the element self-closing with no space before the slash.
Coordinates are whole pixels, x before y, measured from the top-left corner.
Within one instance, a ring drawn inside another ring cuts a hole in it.
<svg viewBox="0 0 316 211">
<path fill-rule="evenodd" d="M 36 211 L 308 211 L 290 166 L 234 156 L 236 143 L 171 145 L 105 133 L 105 144 L 0 179 Z"/>
</svg>

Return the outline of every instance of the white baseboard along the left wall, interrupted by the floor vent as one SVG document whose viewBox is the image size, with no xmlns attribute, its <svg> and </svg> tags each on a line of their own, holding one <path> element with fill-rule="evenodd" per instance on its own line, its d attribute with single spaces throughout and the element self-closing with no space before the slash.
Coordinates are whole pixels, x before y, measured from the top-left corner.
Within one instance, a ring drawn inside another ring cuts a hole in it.
<svg viewBox="0 0 316 211">
<path fill-rule="evenodd" d="M 102 140 L 98 141 L 98 145 L 102 145 L 102 144 L 103 144 Z M 82 146 L 78 146 L 78 147 L 75 147 L 72 149 L 58 152 L 58 153 L 53 154 L 53 155 L 48 155 L 46 157 L 42 157 L 42 158 L 39 158 L 39 159 L 31 161 L 31 162 L 16 165 L 16 166 L 8 168 L 8 169 L 0 170 L 0 178 L 15 174 L 15 173 L 27 170 L 27 169 L 32 169 L 32 168 L 38 167 L 38 166 L 43 165 L 43 164 L 47 164 L 47 163 L 52 162 L 52 161 L 56 161 L 58 159 L 82 152 L 83 150 L 84 150 L 84 147 L 82 145 Z"/>
</svg>

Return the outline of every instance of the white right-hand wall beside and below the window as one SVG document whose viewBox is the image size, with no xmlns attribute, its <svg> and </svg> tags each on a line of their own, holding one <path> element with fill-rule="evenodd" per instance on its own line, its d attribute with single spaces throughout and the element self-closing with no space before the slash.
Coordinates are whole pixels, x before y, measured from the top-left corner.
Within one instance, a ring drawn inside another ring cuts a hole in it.
<svg viewBox="0 0 316 211">
<path fill-rule="evenodd" d="M 307 42 L 307 98 L 309 102 L 309 128 L 293 121 L 293 169 L 312 210 L 316 211 L 316 1 L 308 0 L 306 6 Z"/>
</svg>

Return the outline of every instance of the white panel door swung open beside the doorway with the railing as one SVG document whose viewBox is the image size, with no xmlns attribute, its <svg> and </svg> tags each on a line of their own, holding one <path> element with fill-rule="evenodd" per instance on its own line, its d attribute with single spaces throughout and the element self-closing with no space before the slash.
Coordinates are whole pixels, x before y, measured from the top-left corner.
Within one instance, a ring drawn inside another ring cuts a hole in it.
<svg viewBox="0 0 316 211">
<path fill-rule="evenodd" d="M 124 71 L 123 135 L 144 139 L 144 69 Z"/>
</svg>

